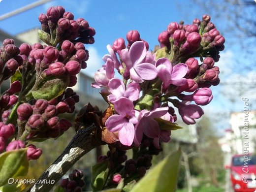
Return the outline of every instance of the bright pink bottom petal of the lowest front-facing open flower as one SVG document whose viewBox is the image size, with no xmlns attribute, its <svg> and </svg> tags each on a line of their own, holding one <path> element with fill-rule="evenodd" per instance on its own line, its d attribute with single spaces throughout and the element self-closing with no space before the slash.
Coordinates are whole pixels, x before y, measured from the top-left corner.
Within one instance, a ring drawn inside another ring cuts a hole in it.
<svg viewBox="0 0 256 192">
<path fill-rule="evenodd" d="M 124 127 L 119 130 L 118 137 L 123 145 L 131 146 L 134 139 L 134 127 L 132 123 L 126 123 Z"/>
</svg>

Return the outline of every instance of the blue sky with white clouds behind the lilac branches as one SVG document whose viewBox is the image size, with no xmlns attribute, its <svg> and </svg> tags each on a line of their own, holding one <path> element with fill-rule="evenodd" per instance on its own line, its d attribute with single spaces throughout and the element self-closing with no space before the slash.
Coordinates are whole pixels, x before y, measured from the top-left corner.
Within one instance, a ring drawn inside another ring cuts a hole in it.
<svg viewBox="0 0 256 192">
<path fill-rule="evenodd" d="M 0 15 L 20 8 L 24 5 L 35 2 L 36 0 L 2 0 L 0 2 Z M 185 24 L 191 24 L 194 18 L 201 19 L 203 14 L 207 14 L 198 6 L 188 6 L 189 0 L 52 0 L 44 5 L 38 6 L 16 16 L 0 21 L 0 29 L 15 35 L 20 32 L 39 28 L 38 15 L 45 13 L 50 6 L 62 5 L 66 11 L 79 17 L 85 18 L 91 27 L 96 29 L 95 44 L 86 45 L 90 52 L 90 59 L 86 73 L 94 74 L 102 64 L 101 58 L 107 53 L 106 45 L 112 44 L 119 37 L 126 38 L 129 30 L 140 32 L 141 38 L 148 41 L 150 48 L 153 49 L 158 44 L 158 35 L 166 30 L 170 22 L 179 22 L 183 20 Z M 225 19 L 217 20 L 212 18 L 212 22 L 217 26 L 225 24 Z M 225 36 L 226 42 L 230 39 Z M 221 54 L 221 60 L 216 65 L 221 68 L 221 79 L 232 81 L 240 79 L 241 74 L 234 76 L 235 60 L 239 57 L 235 48 L 226 47 Z M 256 71 L 251 71 L 249 77 L 254 78 Z M 246 82 L 247 79 L 244 79 Z M 221 89 L 230 89 L 223 87 L 214 87 L 214 99 L 207 107 L 203 107 L 209 116 L 214 116 L 214 112 L 242 111 L 243 103 L 241 98 L 237 97 L 235 103 L 230 103 L 223 95 Z M 231 88 L 232 89 L 232 88 Z M 252 90 L 251 90 L 252 91 Z M 255 90 L 254 90 L 255 91 Z M 246 95 L 247 94 L 247 95 Z M 235 93 L 234 93 L 235 96 Z M 252 94 L 245 93 L 245 96 L 253 97 Z M 217 120 L 219 121 L 219 120 Z M 218 127 L 228 128 L 228 120 L 223 119 Z"/>
</svg>

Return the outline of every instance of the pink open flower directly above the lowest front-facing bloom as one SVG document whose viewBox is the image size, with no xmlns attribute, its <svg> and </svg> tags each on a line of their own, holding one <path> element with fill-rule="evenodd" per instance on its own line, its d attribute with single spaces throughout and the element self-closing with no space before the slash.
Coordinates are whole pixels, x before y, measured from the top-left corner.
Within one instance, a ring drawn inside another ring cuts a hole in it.
<svg viewBox="0 0 256 192">
<path fill-rule="evenodd" d="M 118 78 L 113 78 L 108 83 L 109 91 L 112 93 L 108 96 L 108 100 L 114 103 L 121 96 L 127 97 L 131 101 L 135 101 L 139 98 L 140 86 L 138 83 L 130 83 L 125 87 L 123 81 Z"/>
</svg>

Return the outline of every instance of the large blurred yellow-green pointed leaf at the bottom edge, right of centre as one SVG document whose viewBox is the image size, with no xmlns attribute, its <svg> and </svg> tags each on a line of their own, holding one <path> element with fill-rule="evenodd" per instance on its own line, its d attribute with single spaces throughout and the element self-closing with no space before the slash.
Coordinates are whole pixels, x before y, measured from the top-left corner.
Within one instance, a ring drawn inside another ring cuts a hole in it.
<svg viewBox="0 0 256 192">
<path fill-rule="evenodd" d="M 180 156 L 181 150 L 164 158 L 130 192 L 175 192 Z"/>
</svg>

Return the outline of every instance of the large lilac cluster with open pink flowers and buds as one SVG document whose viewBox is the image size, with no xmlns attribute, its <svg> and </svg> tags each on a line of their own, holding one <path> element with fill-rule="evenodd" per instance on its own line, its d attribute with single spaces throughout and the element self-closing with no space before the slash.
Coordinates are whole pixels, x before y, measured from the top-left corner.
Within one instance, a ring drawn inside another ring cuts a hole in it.
<svg viewBox="0 0 256 192">
<path fill-rule="evenodd" d="M 92 86 L 104 88 L 101 95 L 113 114 L 103 126 L 118 134 L 123 145 L 140 146 L 145 137 L 153 139 L 157 148 L 160 142 L 168 142 L 177 120 L 173 107 L 188 125 L 204 114 L 198 105 L 212 100 L 209 87 L 220 82 L 219 67 L 214 66 L 218 59 L 212 50 L 217 50 L 217 55 L 223 50 L 224 37 L 209 16 L 195 21 L 192 25 L 170 23 L 167 31 L 160 33 L 162 48 L 155 53 L 148 51 L 148 43 L 137 31 L 127 33 L 127 46 L 123 38 L 107 45 L 109 54 L 103 56 L 105 64 L 96 71 Z M 208 44 L 207 35 L 212 35 Z M 202 64 L 193 58 L 197 55 L 205 57 Z M 115 69 L 122 80 L 115 77 Z M 162 128 L 163 124 L 169 128 Z"/>
</svg>

